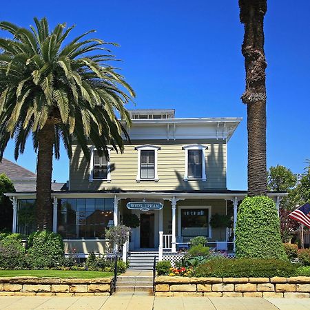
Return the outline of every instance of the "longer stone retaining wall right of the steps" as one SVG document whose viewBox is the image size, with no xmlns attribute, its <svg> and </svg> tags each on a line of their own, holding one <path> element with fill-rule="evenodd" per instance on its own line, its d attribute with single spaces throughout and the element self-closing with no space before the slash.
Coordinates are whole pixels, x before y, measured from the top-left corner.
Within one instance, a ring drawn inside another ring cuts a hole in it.
<svg viewBox="0 0 310 310">
<path fill-rule="evenodd" d="M 309 298 L 310 277 L 185 278 L 158 276 L 156 296 Z"/>
</svg>

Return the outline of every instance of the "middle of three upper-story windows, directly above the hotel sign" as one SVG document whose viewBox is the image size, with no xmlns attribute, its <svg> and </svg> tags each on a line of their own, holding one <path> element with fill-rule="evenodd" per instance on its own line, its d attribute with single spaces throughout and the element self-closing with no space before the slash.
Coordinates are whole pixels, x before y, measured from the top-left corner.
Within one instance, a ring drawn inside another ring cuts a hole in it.
<svg viewBox="0 0 310 310">
<path fill-rule="evenodd" d="M 138 174 L 136 181 L 158 181 L 157 175 L 157 151 L 160 147 L 154 145 L 141 145 L 136 147 L 138 151 Z"/>
</svg>

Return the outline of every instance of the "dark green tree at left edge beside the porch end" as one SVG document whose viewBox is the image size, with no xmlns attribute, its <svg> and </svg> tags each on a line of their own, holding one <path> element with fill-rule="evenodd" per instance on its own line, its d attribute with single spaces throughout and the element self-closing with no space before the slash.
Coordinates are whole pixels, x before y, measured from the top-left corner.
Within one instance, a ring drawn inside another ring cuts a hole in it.
<svg viewBox="0 0 310 310">
<path fill-rule="evenodd" d="M 10 198 L 4 193 L 15 192 L 14 185 L 6 174 L 0 174 L 0 230 L 12 229 L 13 207 Z"/>
</svg>

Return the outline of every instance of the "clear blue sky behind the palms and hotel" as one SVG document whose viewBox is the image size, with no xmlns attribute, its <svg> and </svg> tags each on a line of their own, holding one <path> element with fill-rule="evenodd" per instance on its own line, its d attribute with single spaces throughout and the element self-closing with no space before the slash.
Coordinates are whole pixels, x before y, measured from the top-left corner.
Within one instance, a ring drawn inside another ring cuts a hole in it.
<svg viewBox="0 0 310 310">
<path fill-rule="evenodd" d="M 301 173 L 310 158 L 310 1 L 268 1 L 267 165 Z M 136 90 L 136 108 L 175 108 L 176 117 L 242 116 L 229 141 L 229 189 L 247 187 L 245 85 L 238 0 L 2 1 L 0 19 L 19 25 L 48 17 L 76 24 L 74 34 L 121 45 L 114 54 Z M 128 105 L 132 108 L 132 105 Z M 5 157 L 13 159 L 12 143 Z M 31 143 L 18 163 L 34 171 Z M 53 179 L 68 179 L 68 157 L 54 161 Z"/>
</svg>

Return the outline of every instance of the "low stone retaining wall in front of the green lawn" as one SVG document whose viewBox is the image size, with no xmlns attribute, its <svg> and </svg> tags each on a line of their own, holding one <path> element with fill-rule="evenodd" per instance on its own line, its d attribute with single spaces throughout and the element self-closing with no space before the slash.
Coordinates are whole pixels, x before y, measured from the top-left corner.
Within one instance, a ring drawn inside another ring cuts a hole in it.
<svg viewBox="0 0 310 310">
<path fill-rule="evenodd" d="M 110 295 L 112 278 L 61 279 L 0 278 L 0 296 L 101 296 Z"/>
</svg>

